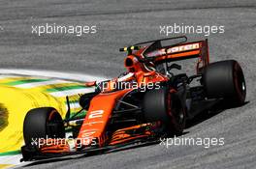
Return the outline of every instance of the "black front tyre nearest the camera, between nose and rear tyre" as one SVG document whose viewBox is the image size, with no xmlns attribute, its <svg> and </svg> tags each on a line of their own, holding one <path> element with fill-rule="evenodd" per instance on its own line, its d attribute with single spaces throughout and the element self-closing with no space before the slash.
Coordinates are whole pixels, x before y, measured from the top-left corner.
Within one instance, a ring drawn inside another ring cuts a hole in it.
<svg viewBox="0 0 256 169">
<path fill-rule="evenodd" d="M 147 91 L 143 106 L 146 122 L 160 121 L 167 133 L 182 134 L 186 123 L 186 109 L 168 87 Z"/>
</svg>

